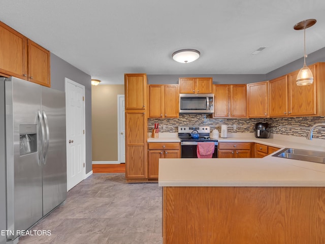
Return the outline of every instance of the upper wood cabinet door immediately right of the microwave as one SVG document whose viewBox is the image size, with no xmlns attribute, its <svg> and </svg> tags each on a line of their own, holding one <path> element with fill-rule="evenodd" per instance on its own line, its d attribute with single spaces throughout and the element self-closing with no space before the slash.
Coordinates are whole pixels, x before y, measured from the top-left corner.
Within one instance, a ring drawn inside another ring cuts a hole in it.
<svg viewBox="0 0 325 244">
<path fill-rule="evenodd" d="M 214 87 L 214 117 L 229 117 L 229 85 L 213 85 Z"/>
</svg>

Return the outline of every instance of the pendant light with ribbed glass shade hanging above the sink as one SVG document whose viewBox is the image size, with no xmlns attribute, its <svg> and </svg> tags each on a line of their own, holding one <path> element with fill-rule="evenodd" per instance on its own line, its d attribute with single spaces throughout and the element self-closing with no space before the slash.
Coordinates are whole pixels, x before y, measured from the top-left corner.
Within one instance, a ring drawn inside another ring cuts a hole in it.
<svg viewBox="0 0 325 244">
<path fill-rule="evenodd" d="M 294 26 L 294 29 L 299 31 L 300 29 L 304 30 L 304 66 L 300 69 L 296 84 L 297 85 L 311 85 L 314 82 L 313 74 L 311 73 L 311 70 L 306 65 L 306 28 L 309 28 L 310 26 L 313 26 L 316 23 L 315 19 L 306 19 L 303 21 L 300 21 Z"/>
</svg>

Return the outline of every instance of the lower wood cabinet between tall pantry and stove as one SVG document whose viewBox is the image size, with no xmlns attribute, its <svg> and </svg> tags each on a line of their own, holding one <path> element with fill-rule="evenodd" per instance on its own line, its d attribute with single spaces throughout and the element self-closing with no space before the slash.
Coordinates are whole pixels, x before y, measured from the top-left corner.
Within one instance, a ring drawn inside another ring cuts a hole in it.
<svg viewBox="0 0 325 244">
<path fill-rule="evenodd" d="M 180 158 L 180 143 L 148 143 L 148 178 L 158 179 L 159 159 Z"/>
</svg>

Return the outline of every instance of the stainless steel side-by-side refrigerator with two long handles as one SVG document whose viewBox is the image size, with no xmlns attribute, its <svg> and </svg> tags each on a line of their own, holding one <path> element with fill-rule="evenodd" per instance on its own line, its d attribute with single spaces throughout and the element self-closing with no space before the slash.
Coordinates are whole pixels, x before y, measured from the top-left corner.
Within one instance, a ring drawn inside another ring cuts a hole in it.
<svg viewBox="0 0 325 244">
<path fill-rule="evenodd" d="M 7 243 L 67 197 L 65 101 L 59 90 L 5 79 Z"/>
</svg>

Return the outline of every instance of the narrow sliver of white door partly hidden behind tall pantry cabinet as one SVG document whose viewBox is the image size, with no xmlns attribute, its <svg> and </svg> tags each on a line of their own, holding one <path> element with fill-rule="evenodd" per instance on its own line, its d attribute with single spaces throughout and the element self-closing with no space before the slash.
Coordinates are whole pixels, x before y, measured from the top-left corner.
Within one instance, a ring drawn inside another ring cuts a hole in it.
<svg viewBox="0 0 325 244">
<path fill-rule="evenodd" d="M 125 101 L 124 95 L 117 95 L 118 99 L 118 138 L 119 162 L 125 163 Z"/>
</svg>

